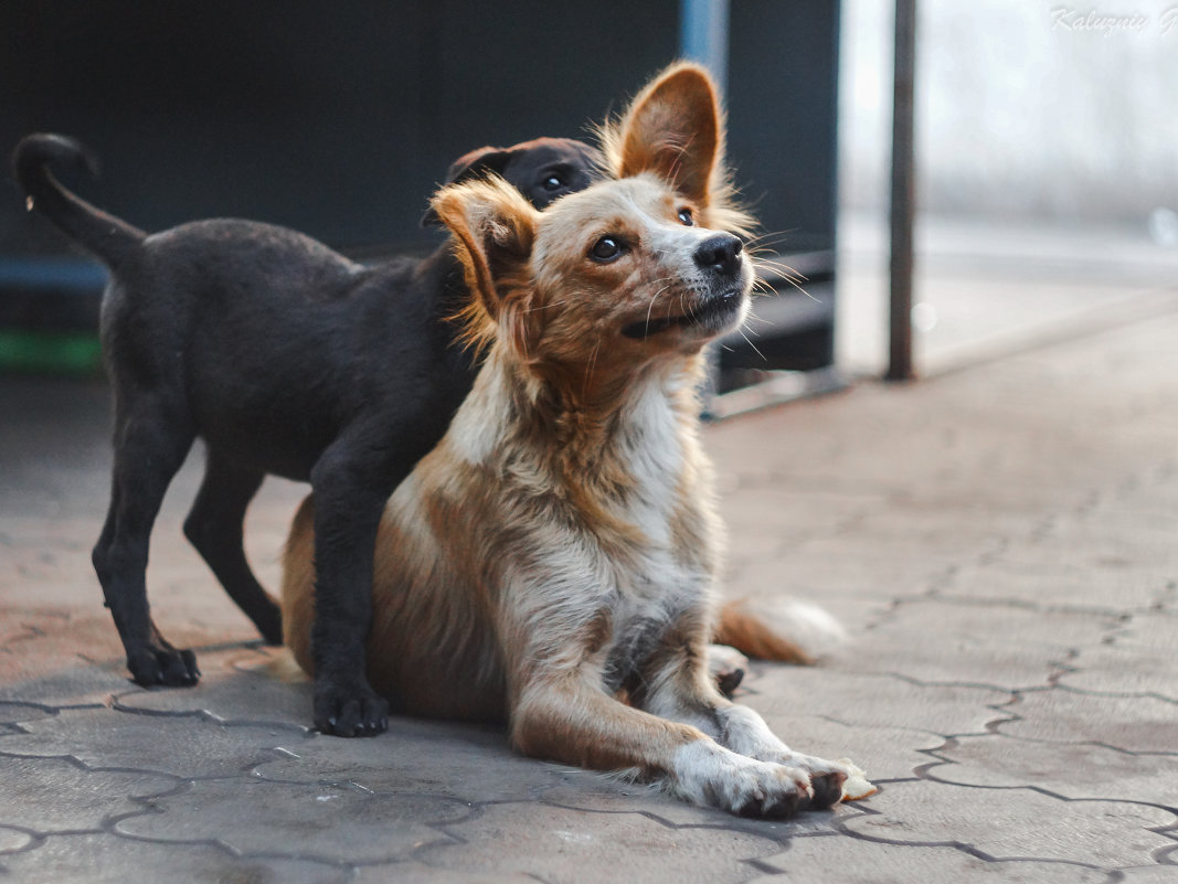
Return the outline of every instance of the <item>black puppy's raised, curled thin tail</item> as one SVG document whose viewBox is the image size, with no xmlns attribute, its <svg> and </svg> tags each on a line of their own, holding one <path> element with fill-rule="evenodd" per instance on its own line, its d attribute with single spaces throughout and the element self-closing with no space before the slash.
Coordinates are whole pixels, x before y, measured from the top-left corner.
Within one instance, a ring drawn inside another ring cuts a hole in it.
<svg viewBox="0 0 1178 884">
<path fill-rule="evenodd" d="M 117 267 L 147 234 L 62 187 L 49 171 L 54 164 L 98 174 L 98 160 L 80 141 L 65 135 L 27 135 L 13 151 L 12 168 L 28 208 L 44 214 L 108 267 Z"/>
</svg>

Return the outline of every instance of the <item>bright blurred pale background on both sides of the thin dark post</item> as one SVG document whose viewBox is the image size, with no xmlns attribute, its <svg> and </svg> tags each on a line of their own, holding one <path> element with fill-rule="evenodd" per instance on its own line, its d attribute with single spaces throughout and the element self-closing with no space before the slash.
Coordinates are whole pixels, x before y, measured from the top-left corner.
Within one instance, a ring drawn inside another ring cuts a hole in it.
<svg viewBox="0 0 1178 884">
<path fill-rule="evenodd" d="M 893 4 L 841 9 L 839 353 L 878 374 Z M 1173 0 L 919 0 L 921 373 L 1173 308 L 1176 107 Z"/>
</svg>

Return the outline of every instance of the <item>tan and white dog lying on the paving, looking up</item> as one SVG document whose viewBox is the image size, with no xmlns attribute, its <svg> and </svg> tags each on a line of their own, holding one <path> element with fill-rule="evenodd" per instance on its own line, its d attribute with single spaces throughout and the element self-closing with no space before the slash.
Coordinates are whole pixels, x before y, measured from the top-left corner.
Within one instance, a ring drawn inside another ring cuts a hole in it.
<svg viewBox="0 0 1178 884">
<path fill-rule="evenodd" d="M 505 719 L 529 755 L 634 771 L 734 813 L 839 800 L 709 677 L 720 525 L 697 440 L 703 346 L 754 281 L 702 68 L 668 68 L 603 133 L 611 180 L 543 213 L 496 181 L 434 200 L 487 347 L 445 438 L 389 501 L 369 677 L 413 714 Z M 283 622 L 311 666 L 312 505 Z"/>
</svg>

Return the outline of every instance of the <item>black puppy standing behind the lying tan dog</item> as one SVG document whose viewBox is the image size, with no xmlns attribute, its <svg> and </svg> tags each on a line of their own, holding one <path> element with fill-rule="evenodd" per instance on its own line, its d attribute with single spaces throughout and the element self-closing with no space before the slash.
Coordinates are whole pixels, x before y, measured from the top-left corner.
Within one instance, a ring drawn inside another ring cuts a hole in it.
<svg viewBox="0 0 1178 884">
<path fill-rule="evenodd" d="M 496 172 L 543 208 L 588 186 L 597 162 L 580 141 L 538 139 L 466 154 L 449 180 Z M 246 563 L 243 519 L 266 473 L 311 483 L 315 723 L 340 736 L 383 731 L 389 705 L 364 671 L 377 523 L 475 373 L 446 321 L 468 298 L 450 246 L 366 267 L 253 221 L 148 235 L 67 191 L 52 164 L 95 164 L 60 135 L 29 135 L 13 154 L 29 207 L 111 270 L 101 340 L 114 476 L 93 561 L 134 680 L 191 685 L 200 674 L 192 651 L 155 629 L 145 585 L 152 524 L 199 436 L 207 464 L 185 534 L 272 644 L 280 617 Z"/>
</svg>

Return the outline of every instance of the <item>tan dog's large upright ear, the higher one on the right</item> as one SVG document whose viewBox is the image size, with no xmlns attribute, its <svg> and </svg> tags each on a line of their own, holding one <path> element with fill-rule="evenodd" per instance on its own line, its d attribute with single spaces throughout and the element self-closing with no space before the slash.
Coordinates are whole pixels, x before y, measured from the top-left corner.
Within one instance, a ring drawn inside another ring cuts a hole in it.
<svg viewBox="0 0 1178 884">
<path fill-rule="evenodd" d="M 681 62 L 667 68 L 605 134 L 610 168 L 618 178 L 654 172 L 684 197 L 709 205 L 723 175 L 723 117 L 703 67 Z"/>
</svg>

